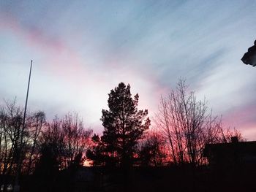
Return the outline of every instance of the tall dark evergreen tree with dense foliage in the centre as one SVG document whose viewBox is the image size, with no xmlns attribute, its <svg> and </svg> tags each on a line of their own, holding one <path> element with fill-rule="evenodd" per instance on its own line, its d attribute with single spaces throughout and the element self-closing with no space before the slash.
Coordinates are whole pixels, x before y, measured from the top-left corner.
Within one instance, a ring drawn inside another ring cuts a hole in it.
<svg viewBox="0 0 256 192">
<path fill-rule="evenodd" d="M 150 125 L 148 110 L 138 110 L 139 96 L 136 94 L 132 99 L 130 86 L 124 82 L 119 83 L 108 96 L 109 110 L 102 110 L 104 131 L 101 140 L 105 152 L 116 165 L 127 167 L 132 164 L 138 139 Z"/>
</svg>

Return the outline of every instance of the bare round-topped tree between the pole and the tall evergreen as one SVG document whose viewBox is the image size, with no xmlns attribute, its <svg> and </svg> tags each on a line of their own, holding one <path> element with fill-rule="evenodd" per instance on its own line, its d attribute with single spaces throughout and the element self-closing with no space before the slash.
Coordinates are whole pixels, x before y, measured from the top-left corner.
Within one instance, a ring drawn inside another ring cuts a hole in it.
<svg viewBox="0 0 256 192">
<path fill-rule="evenodd" d="M 60 169 L 69 168 L 78 156 L 83 158 L 90 145 L 92 130 L 84 128 L 78 114 L 55 118 L 43 132 L 42 142 L 55 146 Z M 81 155 L 82 154 L 82 155 Z"/>
</svg>

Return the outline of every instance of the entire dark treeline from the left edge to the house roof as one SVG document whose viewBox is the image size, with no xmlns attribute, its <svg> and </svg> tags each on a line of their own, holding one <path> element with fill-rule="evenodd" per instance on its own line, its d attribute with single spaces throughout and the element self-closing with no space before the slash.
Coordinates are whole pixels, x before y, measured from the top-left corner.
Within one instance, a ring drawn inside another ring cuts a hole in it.
<svg viewBox="0 0 256 192">
<path fill-rule="evenodd" d="M 241 134 L 222 127 L 206 100 L 197 100 L 185 80 L 162 96 L 153 120 L 138 110 L 139 96 L 123 82 L 108 94 L 102 110 L 102 135 L 93 134 L 75 113 L 47 121 L 44 112 L 30 112 L 23 126 L 23 108 L 15 101 L 0 109 L 0 186 L 14 183 L 18 174 L 53 182 L 56 173 L 91 166 L 167 166 L 206 164 L 206 143 L 229 142 Z M 153 122 L 153 123 L 152 123 Z M 151 127 L 151 128 L 150 128 Z M 20 170 L 19 170 L 20 169 Z"/>
</svg>

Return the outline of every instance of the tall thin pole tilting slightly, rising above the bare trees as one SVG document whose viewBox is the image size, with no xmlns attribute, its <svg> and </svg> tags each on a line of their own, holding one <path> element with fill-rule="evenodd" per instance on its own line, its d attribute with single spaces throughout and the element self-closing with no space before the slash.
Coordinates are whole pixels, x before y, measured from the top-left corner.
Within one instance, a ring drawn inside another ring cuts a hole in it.
<svg viewBox="0 0 256 192">
<path fill-rule="evenodd" d="M 33 63 L 33 61 L 31 60 L 30 70 L 29 70 L 29 82 L 28 82 L 28 88 L 26 90 L 26 103 L 25 103 L 25 109 L 24 109 L 24 115 L 23 115 L 22 130 L 21 130 L 21 133 L 20 133 L 20 149 L 19 149 L 20 154 L 18 154 L 18 166 L 17 166 L 18 169 L 16 170 L 16 175 L 15 175 L 15 186 L 13 188 L 14 192 L 19 192 L 20 191 L 19 176 L 20 176 L 20 173 L 21 173 L 21 166 L 22 166 L 21 153 L 22 153 L 22 148 L 23 148 L 23 132 L 24 132 L 25 123 L 26 123 L 26 107 L 27 107 L 28 98 L 29 98 L 29 85 L 30 85 L 32 63 Z"/>
</svg>

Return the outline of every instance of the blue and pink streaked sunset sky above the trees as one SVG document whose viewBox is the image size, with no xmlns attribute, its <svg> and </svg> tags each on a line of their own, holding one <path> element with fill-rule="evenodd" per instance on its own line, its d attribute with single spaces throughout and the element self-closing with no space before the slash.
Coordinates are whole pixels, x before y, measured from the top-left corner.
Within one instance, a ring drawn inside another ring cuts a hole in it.
<svg viewBox="0 0 256 192">
<path fill-rule="evenodd" d="M 119 82 L 157 112 L 187 78 L 223 125 L 256 140 L 256 68 L 241 57 L 256 39 L 256 1 L 0 1 L 0 104 L 78 112 L 102 131 L 101 111 Z"/>
</svg>

